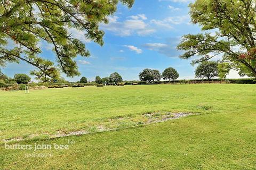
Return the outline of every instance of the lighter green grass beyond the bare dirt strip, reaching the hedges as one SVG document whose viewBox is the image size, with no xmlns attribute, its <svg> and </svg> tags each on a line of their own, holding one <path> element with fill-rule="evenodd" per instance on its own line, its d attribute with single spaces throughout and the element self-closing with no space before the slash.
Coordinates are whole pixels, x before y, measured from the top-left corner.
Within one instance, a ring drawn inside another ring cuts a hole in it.
<svg viewBox="0 0 256 170">
<path fill-rule="evenodd" d="M 75 131 L 152 112 L 226 113 L 255 105 L 254 84 L 151 85 L 0 91 L 0 140 Z"/>
</svg>

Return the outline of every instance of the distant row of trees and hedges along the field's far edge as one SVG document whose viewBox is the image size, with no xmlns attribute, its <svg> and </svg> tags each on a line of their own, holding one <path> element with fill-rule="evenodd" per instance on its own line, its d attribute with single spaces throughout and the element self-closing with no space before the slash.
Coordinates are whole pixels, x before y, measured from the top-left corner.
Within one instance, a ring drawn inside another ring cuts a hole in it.
<svg viewBox="0 0 256 170">
<path fill-rule="evenodd" d="M 195 78 L 201 80 L 212 80 L 216 77 L 219 77 L 220 80 L 226 79 L 230 70 L 230 65 L 228 63 L 218 63 L 215 61 L 203 61 L 199 63 L 195 70 Z M 173 67 L 168 67 L 165 69 L 162 74 L 156 69 L 144 69 L 142 72 L 139 73 L 139 80 L 142 82 L 157 82 L 163 80 L 171 81 L 177 80 L 179 78 L 179 73 Z M 233 80 L 229 79 L 231 82 L 234 83 L 253 83 L 252 80 Z M 15 74 L 13 78 L 7 77 L 4 73 L 0 70 L 0 87 L 11 86 L 14 83 L 18 84 L 28 84 L 31 81 L 29 75 L 26 74 Z M 195 81 L 195 80 L 193 80 Z M 119 83 L 127 83 L 127 82 L 135 82 L 137 81 L 123 81 L 122 76 L 117 73 L 111 73 L 109 77 L 100 78 L 99 75 L 95 77 L 95 81 L 88 81 L 86 77 L 82 77 L 78 82 L 68 82 L 62 77 L 55 77 L 52 79 L 40 79 L 39 83 L 44 84 L 85 84 L 85 86 L 93 86 L 95 84 L 119 84 Z M 129 84 L 129 83 L 128 83 Z M 138 83 L 141 84 L 141 83 Z"/>
</svg>

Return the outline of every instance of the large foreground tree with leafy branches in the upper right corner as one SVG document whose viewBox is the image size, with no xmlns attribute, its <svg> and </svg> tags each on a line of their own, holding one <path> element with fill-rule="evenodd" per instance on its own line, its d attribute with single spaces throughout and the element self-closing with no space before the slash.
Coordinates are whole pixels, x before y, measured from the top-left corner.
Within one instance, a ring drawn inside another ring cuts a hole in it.
<svg viewBox="0 0 256 170">
<path fill-rule="evenodd" d="M 177 49 L 186 52 L 180 57 L 201 56 L 192 62 L 195 64 L 222 55 L 222 62 L 256 77 L 255 2 L 196 0 L 189 7 L 191 21 L 208 33 L 183 36 Z M 218 31 L 209 33 L 214 30 Z"/>
</svg>

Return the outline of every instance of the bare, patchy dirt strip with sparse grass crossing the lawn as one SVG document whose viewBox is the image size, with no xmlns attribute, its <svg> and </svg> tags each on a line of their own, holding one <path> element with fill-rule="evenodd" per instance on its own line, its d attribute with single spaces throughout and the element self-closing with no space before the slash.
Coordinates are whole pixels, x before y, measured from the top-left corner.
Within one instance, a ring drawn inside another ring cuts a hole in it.
<svg viewBox="0 0 256 170">
<path fill-rule="evenodd" d="M 196 115 L 194 113 L 170 113 L 170 112 L 159 112 L 159 113 L 147 113 L 142 115 L 135 115 L 135 116 L 125 116 L 125 117 L 114 117 L 107 119 L 105 121 L 100 122 L 92 122 L 90 124 L 86 124 L 85 127 L 81 130 L 77 131 L 57 131 L 56 134 L 31 134 L 26 137 L 17 137 L 17 138 L 9 138 L 2 140 L 3 142 L 11 142 L 11 141 L 22 141 L 22 140 L 29 140 L 38 138 L 44 135 L 46 138 L 53 139 L 53 138 L 61 138 L 61 137 L 69 137 L 74 135 L 83 135 L 83 134 L 90 134 L 90 133 L 97 133 L 97 132 L 104 132 L 104 131 L 114 131 L 119 129 L 131 128 L 141 125 L 147 125 L 152 123 L 159 123 L 168 120 L 174 120 L 181 117 L 186 117 L 190 115 Z"/>
</svg>

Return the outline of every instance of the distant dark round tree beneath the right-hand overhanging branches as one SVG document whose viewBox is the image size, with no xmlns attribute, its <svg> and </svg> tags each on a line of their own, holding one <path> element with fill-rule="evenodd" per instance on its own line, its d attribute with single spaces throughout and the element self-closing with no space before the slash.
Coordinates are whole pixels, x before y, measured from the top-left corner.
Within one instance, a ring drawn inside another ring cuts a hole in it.
<svg viewBox="0 0 256 170">
<path fill-rule="evenodd" d="M 204 61 L 199 64 L 195 71 L 196 78 L 207 78 L 210 80 L 218 76 L 218 63 L 214 61 Z"/>
</svg>

